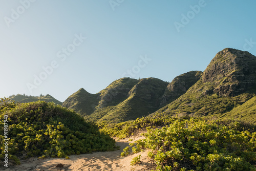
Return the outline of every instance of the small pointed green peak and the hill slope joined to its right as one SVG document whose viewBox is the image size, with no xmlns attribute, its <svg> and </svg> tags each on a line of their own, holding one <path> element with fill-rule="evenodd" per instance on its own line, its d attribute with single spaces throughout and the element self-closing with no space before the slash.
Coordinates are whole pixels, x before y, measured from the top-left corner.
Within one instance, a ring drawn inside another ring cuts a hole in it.
<svg viewBox="0 0 256 171">
<path fill-rule="evenodd" d="M 62 106 L 74 110 L 86 120 L 97 121 L 124 101 L 129 91 L 138 82 L 137 79 L 121 78 L 113 81 L 97 94 L 90 94 L 86 90 L 80 89 L 69 96 Z"/>
</svg>

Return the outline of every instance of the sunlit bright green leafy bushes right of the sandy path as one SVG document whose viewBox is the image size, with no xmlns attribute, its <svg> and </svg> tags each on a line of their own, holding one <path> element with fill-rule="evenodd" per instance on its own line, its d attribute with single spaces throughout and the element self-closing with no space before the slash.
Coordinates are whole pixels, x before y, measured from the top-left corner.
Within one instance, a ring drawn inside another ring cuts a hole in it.
<svg viewBox="0 0 256 171">
<path fill-rule="evenodd" d="M 148 125 L 148 119 L 127 123 L 123 127 L 125 131 L 120 129 L 119 133 L 131 131 L 127 125 L 142 126 L 143 122 Z M 155 125 L 161 123 L 160 118 L 151 120 L 158 120 Z M 154 170 L 256 170 L 255 125 L 189 117 L 167 120 L 172 124 L 161 129 L 147 127 L 145 138 L 124 148 L 121 156 L 129 155 L 129 148 L 133 153 L 150 149 L 150 169 Z M 116 129 L 118 126 L 112 129 L 114 134 L 117 134 Z M 136 163 L 139 163 L 139 156 L 131 164 Z"/>
</svg>

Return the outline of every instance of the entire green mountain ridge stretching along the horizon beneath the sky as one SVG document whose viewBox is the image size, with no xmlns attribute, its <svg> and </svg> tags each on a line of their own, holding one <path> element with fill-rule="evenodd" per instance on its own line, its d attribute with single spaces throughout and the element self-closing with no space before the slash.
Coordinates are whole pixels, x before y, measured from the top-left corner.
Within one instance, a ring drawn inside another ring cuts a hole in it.
<svg viewBox="0 0 256 171">
<path fill-rule="evenodd" d="M 256 57 L 249 52 L 225 48 L 215 55 L 203 72 L 189 71 L 171 82 L 152 77 L 120 78 L 96 94 L 81 88 L 59 104 L 95 122 L 117 123 L 162 112 L 170 116 L 236 117 L 246 120 L 255 115 L 252 104 L 246 104 L 255 94 Z M 11 98 L 21 102 L 54 99 L 50 95 L 30 99 L 21 96 Z M 231 114 L 241 115 L 243 108 L 247 107 L 251 111 L 246 117 Z"/>
</svg>

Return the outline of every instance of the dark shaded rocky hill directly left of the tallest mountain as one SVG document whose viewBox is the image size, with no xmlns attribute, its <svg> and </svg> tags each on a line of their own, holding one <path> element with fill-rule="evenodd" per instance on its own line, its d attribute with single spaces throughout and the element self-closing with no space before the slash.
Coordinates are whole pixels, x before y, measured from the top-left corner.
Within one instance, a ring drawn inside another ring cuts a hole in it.
<svg viewBox="0 0 256 171">
<path fill-rule="evenodd" d="M 189 71 L 175 77 L 173 81 L 168 84 L 161 98 L 160 106 L 163 107 L 186 93 L 186 91 L 201 78 L 202 73 L 202 71 Z"/>
</svg>

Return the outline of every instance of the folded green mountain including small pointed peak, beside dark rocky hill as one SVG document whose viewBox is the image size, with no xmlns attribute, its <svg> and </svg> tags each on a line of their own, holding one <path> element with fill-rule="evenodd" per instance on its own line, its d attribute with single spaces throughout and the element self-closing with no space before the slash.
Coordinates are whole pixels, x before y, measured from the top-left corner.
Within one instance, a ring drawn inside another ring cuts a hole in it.
<svg viewBox="0 0 256 171">
<path fill-rule="evenodd" d="M 106 89 L 90 94 L 84 89 L 72 94 L 63 107 L 91 121 L 121 122 L 146 116 L 160 108 L 168 82 L 157 78 L 121 78 Z"/>
</svg>

